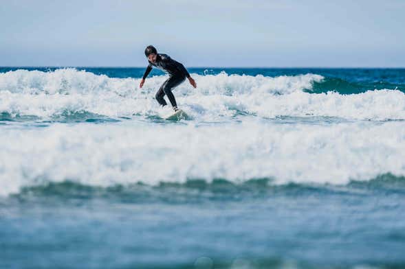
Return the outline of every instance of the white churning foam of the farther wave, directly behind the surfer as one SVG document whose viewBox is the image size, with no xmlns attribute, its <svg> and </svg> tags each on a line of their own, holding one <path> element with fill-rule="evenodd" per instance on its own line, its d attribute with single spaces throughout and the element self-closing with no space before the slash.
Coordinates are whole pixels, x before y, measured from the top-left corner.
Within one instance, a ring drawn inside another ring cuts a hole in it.
<svg viewBox="0 0 405 269">
<path fill-rule="evenodd" d="M 405 119 L 405 94 L 401 91 L 367 91 L 355 95 L 306 93 L 316 74 L 280 76 L 197 75 L 198 88 L 188 82 L 175 89 L 177 102 L 197 121 L 212 121 L 244 112 L 259 117 L 330 116 L 347 119 Z M 52 72 L 0 73 L 0 111 L 12 115 L 52 117 L 87 111 L 109 117 L 160 115 L 155 91 L 166 76 L 139 79 L 108 78 L 76 69 Z"/>
</svg>

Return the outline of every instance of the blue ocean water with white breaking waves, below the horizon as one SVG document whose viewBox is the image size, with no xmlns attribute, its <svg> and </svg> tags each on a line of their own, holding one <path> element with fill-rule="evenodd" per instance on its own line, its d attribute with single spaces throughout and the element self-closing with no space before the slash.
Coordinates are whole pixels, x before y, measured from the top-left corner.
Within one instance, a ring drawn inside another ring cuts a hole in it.
<svg viewBox="0 0 405 269">
<path fill-rule="evenodd" d="M 0 67 L 0 268 L 405 268 L 405 69 Z"/>
</svg>

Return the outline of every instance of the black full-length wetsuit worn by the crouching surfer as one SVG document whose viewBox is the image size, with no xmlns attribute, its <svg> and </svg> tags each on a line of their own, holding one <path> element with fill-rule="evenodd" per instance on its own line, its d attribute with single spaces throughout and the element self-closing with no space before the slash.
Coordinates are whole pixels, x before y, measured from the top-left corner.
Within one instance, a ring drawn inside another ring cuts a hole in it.
<svg viewBox="0 0 405 269">
<path fill-rule="evenodd" d="M 170 56 L 166 54 L 157 54 L 156 62 L 152 63 L 149 61 L 148 67 L 146 67 L 143 79 L 145 79 L 152 70 L 152 67 L 157 67 L 162 71 L 169 74 L 169 78 L 160 86 L 159 91 L 157 91 L 155 97 L 157 102 L 162 106 L 166 106 L 166 101 L 164 100 L 164 95 L 167 95 L 168 100 L 171 102 L 173 107 L 177 107 L 175 96 L 172 93 L 172 89 L 179 86 L 186 78 L 190 77 L 190 74 L 181 63 L 173 60 Z"/>
</svg>

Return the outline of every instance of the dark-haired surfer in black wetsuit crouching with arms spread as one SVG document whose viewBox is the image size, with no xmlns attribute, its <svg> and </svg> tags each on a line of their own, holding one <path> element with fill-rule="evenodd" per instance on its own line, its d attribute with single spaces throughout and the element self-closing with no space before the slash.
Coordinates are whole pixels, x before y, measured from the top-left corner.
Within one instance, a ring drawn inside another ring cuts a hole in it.
<svg viewBox="0 0 405 269">
<path fill-rule="evenodd" d="M 182 65 L 180 62 L 177 62 L 170 58 L 167 54 L 157 54 L 157 50 L 155 47 L 152 45 L 149 45 L 145 49 L 145 56 L 148 58 L 149 65 L 146 67 L 144 76 L 142 77 L 142 80 L 140 82 L 140 88 L 144 86 L 145 79 L 151 72 L 153 67 L 157 67 L 158 69 L 161 69 L 162 71 L 165 71 L 168 73 L 169 77 L 168 79 L 160 86 L 159 91 L 157 91 L 155 97 L 157 102 L 161 104 L 162 106 L 166 106 L 166 101 L 164 100 L 164 95 L 167 95 L 168 100 L 171 102 L 171 105 L 173 106 L 173 109 L 175 111 L 179 110 L 177 108 L 177 103 L 175 100 L 175 96 L 172 93 L 172 90 L 176 87 L 179 86 L 186 78 L 188 78 L 188 82 L 194 87 L 197 88 L 197 84 L 193 80 L 193 78 L 190 77 L 190 74 Z"/>
</svg>

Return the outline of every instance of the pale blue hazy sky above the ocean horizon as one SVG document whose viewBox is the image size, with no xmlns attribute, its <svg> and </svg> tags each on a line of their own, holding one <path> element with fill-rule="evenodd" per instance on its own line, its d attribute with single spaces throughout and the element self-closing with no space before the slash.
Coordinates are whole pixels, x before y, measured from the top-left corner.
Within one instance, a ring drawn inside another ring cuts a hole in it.
<svg viewBox="0 0 405 269">
<path fill-rule="evenodd" d="M 13 0 L 0 66 L 405 67 L 405 0 Z"/>
</svg>

